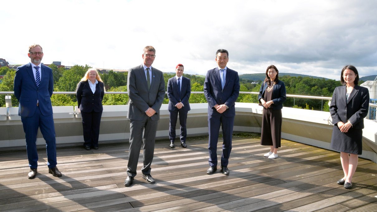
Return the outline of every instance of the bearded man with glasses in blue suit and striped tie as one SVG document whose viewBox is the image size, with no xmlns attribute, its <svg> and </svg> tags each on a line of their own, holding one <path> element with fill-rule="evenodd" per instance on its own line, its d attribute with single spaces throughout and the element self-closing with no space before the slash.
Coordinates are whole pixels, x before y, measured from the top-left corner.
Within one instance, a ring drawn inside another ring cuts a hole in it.
<svg viewBox="0 0 377 212">
<path fill-rule="evenodd" d="M 31 62 L 17 68 L 13 88 L 14 95 L 20 102 L 18 115 L 21 116 L 25 131 L 26 152 L 30 167 L 28 178 L 33 179 L 37 175 L 38 128 L 46 140 L 49 173 L 55 177 L 61 177 L 61 173 L 56 167 L 55 128 L 51 105 L 51 96 L 54 90 L 52 69 L 41 64 L 43 52 L 40 45 L 31 45 L 28 56 Z"/>
</svg>

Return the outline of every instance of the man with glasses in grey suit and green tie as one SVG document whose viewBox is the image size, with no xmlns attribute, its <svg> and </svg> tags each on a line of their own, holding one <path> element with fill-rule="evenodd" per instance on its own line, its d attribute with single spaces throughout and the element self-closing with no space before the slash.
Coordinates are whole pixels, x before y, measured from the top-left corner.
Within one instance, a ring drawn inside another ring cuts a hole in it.
<svg viewBox="0 0 377 212">
<path fill-rule="evenodd" d="M 124 186 L 132 185 L 136 176 L 141 143 L 143 143 L 143 178 L 147 183 L 155 183 L 150 175 L 150 165 L 155 150 L 157 122 L 165 96 L 164 75 L 158 69 L 152 68 L 156 50 L 153 46 L 144 48 L 143 64 L 128 71 L 127 91 L 129 96 L 130 119 L 130 149 L 127 165 L 127 178 Z"/>
</svg>

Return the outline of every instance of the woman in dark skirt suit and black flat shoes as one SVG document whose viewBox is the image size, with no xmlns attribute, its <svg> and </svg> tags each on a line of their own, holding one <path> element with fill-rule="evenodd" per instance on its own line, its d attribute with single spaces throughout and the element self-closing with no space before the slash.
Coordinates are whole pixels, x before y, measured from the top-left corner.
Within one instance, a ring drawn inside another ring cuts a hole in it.
<svg viewBox="0 0 377 212">
<path fill-rule="evenodd" d="M 336 87 L 330 103 L 333 119 L 331 148 L 340 151 L 344 177 L 337 181 L 344 188 L 352 187 L 358 155 L 362 154 L 364 118 L 368 114 L 369 91 L 360 87 L 359 73 L 354 66 L 345 66 L 340 74 L 343 86 Z"/>
</svg>

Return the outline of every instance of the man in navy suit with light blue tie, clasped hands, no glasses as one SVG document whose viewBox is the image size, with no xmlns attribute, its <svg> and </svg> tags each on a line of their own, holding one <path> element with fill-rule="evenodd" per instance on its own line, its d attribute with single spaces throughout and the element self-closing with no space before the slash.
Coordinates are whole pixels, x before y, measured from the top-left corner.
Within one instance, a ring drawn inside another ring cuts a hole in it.
<svg viewBox="0 0 377 212">
<path fill-rule="evenodd" d="M 232 149 L 232 134 L 236 102 L 239 94 L 238 73 L 227 67 L 228 51 L 219 49 L 216 52 L 218 67 L 208 70 L 204 80 L 204 95 L 208 102 L 208 160 L 210 168 L 207 174 L 217 170 L 217 143 L 220 125 L 222 128 L 221 172 L 229 175 L 228 161 Z"/>
</svg>

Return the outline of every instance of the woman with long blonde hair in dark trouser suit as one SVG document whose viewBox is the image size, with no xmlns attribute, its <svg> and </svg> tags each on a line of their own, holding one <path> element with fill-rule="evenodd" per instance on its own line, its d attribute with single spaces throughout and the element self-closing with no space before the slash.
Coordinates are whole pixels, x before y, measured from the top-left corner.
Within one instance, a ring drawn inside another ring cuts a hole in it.
<svg viewBox="0 0 377 212">
<path fill-rule="evenodd" d="M 77 103 L 83 120 L 84 148 L 98 149 L 104 84 L 96 69 L 89 69 L 77 85 Z"/>
</svg>

